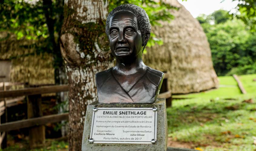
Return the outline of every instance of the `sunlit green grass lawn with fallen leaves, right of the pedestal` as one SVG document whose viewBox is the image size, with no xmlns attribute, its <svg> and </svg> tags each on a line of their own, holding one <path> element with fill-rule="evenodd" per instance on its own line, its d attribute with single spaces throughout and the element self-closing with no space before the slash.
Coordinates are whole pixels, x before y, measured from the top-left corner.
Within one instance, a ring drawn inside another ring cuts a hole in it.
<svg viewBox="0 0 256 151">
<path fill-rule="evenodd" d="M 170 140 L 204 151 L 256 150 L 256 74 L 239 78 L 245 95 L 232 76 L 225 76 L 219 77 L 218 89 L 173 96 L 186 99 L 167 108 Z M 243 102 L 248 99 L 253 103 Z"/>
</svg>

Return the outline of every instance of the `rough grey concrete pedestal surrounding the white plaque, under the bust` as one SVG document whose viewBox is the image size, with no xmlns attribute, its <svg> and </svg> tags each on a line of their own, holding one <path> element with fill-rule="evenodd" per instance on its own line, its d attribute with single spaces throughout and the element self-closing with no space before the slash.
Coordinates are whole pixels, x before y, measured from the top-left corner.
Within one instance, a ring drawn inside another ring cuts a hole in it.
<svg viewBox="0 0 256 151">
<path fill-rule="evenodd" d="M 93 108 L 158 108 L 157 144 L 104 144 L 89 143 Z M 98 104 L 93 102 L 87 106 L 85 126 L 82 140 L 82 151 L 192 151 L 190 149 L 167 148 L 168 127 L 165 99 L 157 99 L 152 104 Z"/>
</svg>

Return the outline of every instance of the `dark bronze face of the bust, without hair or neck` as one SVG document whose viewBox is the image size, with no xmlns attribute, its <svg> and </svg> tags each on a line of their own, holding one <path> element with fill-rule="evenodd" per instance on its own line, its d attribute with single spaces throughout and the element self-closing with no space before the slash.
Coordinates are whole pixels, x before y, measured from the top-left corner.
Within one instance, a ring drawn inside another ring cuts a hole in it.
<svg viewBox="0 0 256 151">
<path fill-rule="evenodd" d="M 141 56 L 142 37 L 133 13 L 121 11 L 110 18 L 108 39 L 116 58 Z"/>
</svg>

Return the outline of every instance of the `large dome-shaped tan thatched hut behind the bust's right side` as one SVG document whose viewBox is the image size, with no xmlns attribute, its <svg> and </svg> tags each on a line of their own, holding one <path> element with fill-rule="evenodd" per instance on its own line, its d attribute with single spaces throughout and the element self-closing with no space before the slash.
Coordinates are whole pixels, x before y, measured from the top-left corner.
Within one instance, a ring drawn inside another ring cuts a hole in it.
<svg viewBox="0 0 256 151">
<path fill-rule="evenodd" d="M 177 0 L 167 0 L 179 10 L 162 27 L 152 27 L 163 45 L 147 48 L 143 61 L 147 66 L 167 71 L 169 89 L 173 94 L 200 92 L 218 87 L 218 78 L 211 60 L 207 37 L 199 22 Z"/>
</svg>

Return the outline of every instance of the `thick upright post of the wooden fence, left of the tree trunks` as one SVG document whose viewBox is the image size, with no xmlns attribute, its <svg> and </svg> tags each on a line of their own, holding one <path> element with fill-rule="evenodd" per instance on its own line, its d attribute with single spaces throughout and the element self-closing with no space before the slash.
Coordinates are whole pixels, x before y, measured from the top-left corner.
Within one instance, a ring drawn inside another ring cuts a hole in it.
<svg viewBox="0 0 256 151">
<path fill-rule="evenodd" d="M 42 97 L 40 95 L 27 96 L 28 118 L 41 117 Z M 29 129 L 29 147 L 35 148 L 45 144 L 45 126 L 34 126 Z"/>
</svg>

